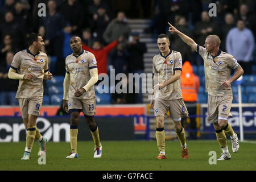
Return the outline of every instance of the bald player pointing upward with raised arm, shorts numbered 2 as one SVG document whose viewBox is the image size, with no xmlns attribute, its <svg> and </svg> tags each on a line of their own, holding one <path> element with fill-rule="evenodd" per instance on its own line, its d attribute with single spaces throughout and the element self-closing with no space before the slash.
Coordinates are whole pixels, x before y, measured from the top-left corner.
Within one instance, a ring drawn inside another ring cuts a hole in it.
<svg viewBox="0 0 256 182">
<path fill-rule="evenodd" d="M 231 84 L 243 75 L 243 69 L 232 55 L 221 51 L 221 40 L 217 35 L 207 36 L 204 47 L 202 47 L 170 23 L 168 24 L 170 32 L 179 35 L 188 46 L 197 51 L 204 59 L 205 91 L 208 92 L 207 122 L 213 123 L 217 141 L 222 150 L 218 160 L 231 159 L 225 133 L 231 138 L 232 151 L 237 152 L 239 148 L 237 134 L 228 124 L 228 118 L 232 117 L 230 114 L 233 100 Z M 231 69 L 234 69 L 235 72 L 230 78 Z"/>
</svg>

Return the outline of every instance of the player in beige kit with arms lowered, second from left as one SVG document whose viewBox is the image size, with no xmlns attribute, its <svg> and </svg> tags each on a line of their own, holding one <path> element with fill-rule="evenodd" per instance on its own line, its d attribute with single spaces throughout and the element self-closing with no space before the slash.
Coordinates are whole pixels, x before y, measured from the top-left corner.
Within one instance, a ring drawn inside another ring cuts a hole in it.
<svg viewBox="0 0 256 182">
<path fill-rule="evenodd" d="M 94 84 L 98 81 L 97 61 L 93 53 L 82 49 L 82 42 L 78 36 L 73 36 L 70 39 L 70 46 L 73 53 L 66 57 L 66 75 L 63 83 L 63 109 L 71 114 L 71 153 L 67 158 L 79 157 L 77 154 L 77 125 L 81 111 L 84 113 L 95 144 L 94 158 L 100 158 L 102 146 L 98 127 L 94 121 L 96 107 Z"/>
</svg>

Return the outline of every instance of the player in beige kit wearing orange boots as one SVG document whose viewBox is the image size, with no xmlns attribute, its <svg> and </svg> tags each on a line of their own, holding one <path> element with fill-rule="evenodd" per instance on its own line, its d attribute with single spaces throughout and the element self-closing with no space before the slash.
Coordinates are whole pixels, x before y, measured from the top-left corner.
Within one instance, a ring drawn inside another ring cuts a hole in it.
<svg viewBox="0 0 256 182">
<path fill-rule="evenodd" d="M 158 74 L 159 84 L 154 83 L 154 90 L 159 89 L 159 97 L 150 102 L 152 109 L 155 110 L 155 136 L 160 151 L 156 159 L 166 159 L 164 115 L 168 111 L 170 111 L 174 130 L 180 141 L 181 158 L 187 159 L 188 148 L 185 140 L 185 131 L 181 126 L 181 118 L 188 117 L 188 110 L 184 104 L 180 88 L 181 54 L 169 48 L 170 40 L 166 34 L 160 34 L 157 43 L 160 54 L 153 57 L 152 72 L 154 80 L 156 74 Z"/>
</svg>

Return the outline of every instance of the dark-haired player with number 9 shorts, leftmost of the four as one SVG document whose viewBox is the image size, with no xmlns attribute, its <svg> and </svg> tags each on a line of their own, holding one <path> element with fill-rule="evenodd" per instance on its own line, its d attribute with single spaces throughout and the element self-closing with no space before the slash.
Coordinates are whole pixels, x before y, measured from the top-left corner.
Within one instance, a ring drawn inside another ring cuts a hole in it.
<svg viewBox="0 0 256 182">
<path fill-rule="evenodd" d="M 8 77 L 19 80 L 16 98 L 27 130 L 26 147 L 22 160 L 30 159 L 34 140 L 39 141 L 40 151 L 46 152 L 47 139 L 36 128 L 36 119 L 40 115 L 43 102 L 43 79 L 51 80 L 48 71 L 48 57 L 43 53 L 43 38 L 32 33 L 28 36 L 28 48 L 14 55 Z"/>
</svg>

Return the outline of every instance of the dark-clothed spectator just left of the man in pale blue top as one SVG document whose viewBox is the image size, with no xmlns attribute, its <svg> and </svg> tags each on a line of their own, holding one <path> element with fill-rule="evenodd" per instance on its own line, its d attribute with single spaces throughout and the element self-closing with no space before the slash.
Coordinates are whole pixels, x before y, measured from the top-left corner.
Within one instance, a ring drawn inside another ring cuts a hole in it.
<svg viewBox="0 0 256 182">
<path fill-rule="evenodd" d="M 226 52 L 226 36 L 228 35 L 228 32 L 236 27 L 236 24 L 234 24 L 234 16 L 231 13 L 227 13 L 225 15 L 225 24 L 221 27 L 221 49 L 222 51 Z"/>
</svg>

